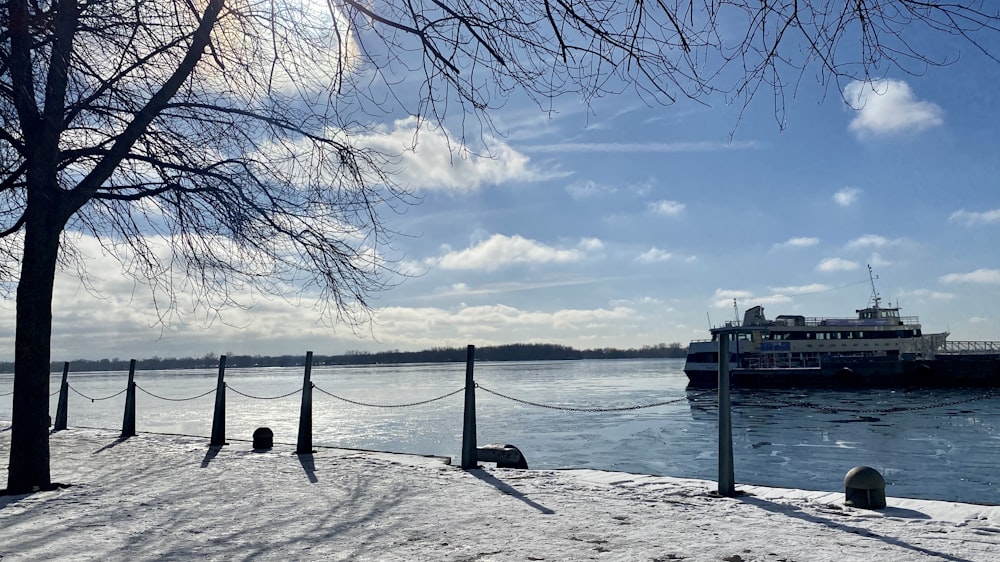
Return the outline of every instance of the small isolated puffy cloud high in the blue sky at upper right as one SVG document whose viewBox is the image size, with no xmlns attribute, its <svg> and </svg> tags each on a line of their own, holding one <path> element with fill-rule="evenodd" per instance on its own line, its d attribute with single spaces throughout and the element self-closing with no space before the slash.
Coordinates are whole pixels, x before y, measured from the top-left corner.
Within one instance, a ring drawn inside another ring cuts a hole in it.
<svg viewBox="0 0 1000 562">
<path fill-rule="evenodd" d="M 848 128 L 858 137 L 920 132 L 944 122 L 938 105 L 918 100 L 901 80 L 851 82 L 844 96 L 857 112 Z"/>
</svg>

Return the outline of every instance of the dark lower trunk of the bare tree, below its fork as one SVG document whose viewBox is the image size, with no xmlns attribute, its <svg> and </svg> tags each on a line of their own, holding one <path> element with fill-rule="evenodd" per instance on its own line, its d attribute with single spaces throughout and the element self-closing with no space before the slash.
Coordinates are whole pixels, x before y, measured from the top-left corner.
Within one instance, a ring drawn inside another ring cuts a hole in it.
<svg viewBox="0 0 1000 562">
<path fill-rule="evenodd" d="M 65 223 L 56 208 L 58 205 L 29 205 L 25 223 L 24 254 L 17 285 L 8 494 L 52 487 L 49 473 L 52 289 L 59 236 Z"/>
</svg>

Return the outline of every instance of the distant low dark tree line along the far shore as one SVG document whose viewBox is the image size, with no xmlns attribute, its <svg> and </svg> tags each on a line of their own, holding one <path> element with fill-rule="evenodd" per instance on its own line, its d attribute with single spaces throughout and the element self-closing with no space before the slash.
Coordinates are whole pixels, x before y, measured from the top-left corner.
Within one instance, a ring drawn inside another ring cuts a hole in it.
<svg viewBox="0 0 1000 562">
<path fill-rule="evenodd" d="M 687 348 L 679 343 L 644 345 L 640 348 L 574 349 L 546 343 L 513 343 L 476 348 L 476 361 L 566 361 L 578 359 L 670 359 L 683 358 Z M 375 365 L 379 363 L 450 363 L 465 361 L 464 347 L 434 347 L 423 351 L 348 351 L 343 355 L 313 355 L 313 365 Z M 299 367 L 305 365 L 301 355 L 232 355 L 226 356 L 226 366 Z M 208 353 L 201 357 L 150 357 L 136 361 L 136 368 L 152 371 L 167 369 L 211 369 L 219 366 L 219 356 Z M 62 372 L 63 362 L 53 361 L 51 371 Z M 127 371 L 129 359 L 74 359 L 71 371 Z M 14 370 L 11 362 L 0 362 L 0 372 Z"/>
</svg>

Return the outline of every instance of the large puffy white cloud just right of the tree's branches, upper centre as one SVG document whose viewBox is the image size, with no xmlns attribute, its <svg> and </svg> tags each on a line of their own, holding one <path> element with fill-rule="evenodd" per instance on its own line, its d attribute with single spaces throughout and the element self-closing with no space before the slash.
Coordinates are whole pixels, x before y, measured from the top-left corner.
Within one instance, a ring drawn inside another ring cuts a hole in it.
<svg viewBox="0 0 1000 562">
<path fill-rule="evenodd" d="M 485 155 L 476 154 L 461 147 L 447 131 L 420 126 L 413 117 L 362 137 L 360 144 L 397 155 L 390 171 L 401 185 L 415 190 L 470 192 L 486 185 L 565 175 L 531 166 L 526 155 L 499 139 L 489 139 Z"/>
</svg>

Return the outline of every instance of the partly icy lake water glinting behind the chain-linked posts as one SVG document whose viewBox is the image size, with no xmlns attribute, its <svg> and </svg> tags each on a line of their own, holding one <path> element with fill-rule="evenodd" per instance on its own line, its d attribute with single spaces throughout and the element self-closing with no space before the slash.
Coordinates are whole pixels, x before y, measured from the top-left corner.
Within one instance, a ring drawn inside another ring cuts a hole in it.
<svg viewBox="0 0 1000 562">
<path fill-rule="evenodd" d="M 704 478 L 718 476 L 714 393 L 687 390 L 683 360 L 478 363 L 478 443 L 510 443 L 532 468 L 597 468 Z M 139 371 L 137 429 L 206 437 L 217 372 Z M 70 373 L 69 425 L 120 429 L 126 373 Z M 313 444 L 461 458 L 464 364 L 314 367 Z M 296 442 L 302 368 L 228 369 L 226 435 L 246 446 L 266 426 Z M 53 376 L 50 387 L 58 389 Z M 0 375 L 0 426 L 9 425 L 12 376 Z M 550 409 L 496 396 L 574 408 Z M 191 398 L 193 400 L 165 400 Z M 290 396 L 278 399 L 247 398 Z M 154 397 L 150 394 L 159 396 Z M 845 392 L 734 391 L 737 483 L 843 490 L 852 467 L 868 465 L 898 497 L 1000 505 L 1000 396 L 979 389 Z M 52 397 L 54 415 L 57 397 Z M 950 403 L 950 405 L 946 404 Z M 796 404 L 796 405 L 788 405 Z M 884 413 L 895 407 L 908 411 Z M 839 411 L 830 411 L 837 409 Z M 4 453 L 5 454 L 5 453 Z M 58 459 L 55 460 L 58 462 Z"/>
</svg>

